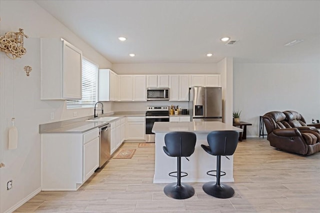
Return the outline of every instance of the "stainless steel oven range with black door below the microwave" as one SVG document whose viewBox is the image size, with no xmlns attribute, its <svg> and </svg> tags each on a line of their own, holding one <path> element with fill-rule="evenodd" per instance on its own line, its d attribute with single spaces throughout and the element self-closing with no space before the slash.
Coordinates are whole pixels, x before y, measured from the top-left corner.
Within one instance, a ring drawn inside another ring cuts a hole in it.
<svg viewBox="0 0 320 213">
<path fill-rule="evenodd" d="M 154 133 L 151 132 L 154 122 L 169 122 L 168 106 L 147 106 L 145 112 L 145 142 L 154 143 Z"/>
</svg>

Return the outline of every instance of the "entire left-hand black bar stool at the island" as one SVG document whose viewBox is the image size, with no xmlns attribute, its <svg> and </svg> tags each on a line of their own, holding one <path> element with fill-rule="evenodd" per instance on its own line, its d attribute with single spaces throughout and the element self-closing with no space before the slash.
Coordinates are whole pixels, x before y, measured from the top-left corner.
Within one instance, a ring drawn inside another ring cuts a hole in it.
<svg viewBox="0 0 320 213">
<path fill-rule="evenodd" d="M 188 174 L 181 172 L 181 157 L 189 157 L 194 152 L 196 136 L 192 132 L 170 132 L 165 134 L 163 151 L 170 157 L 177 157 L 177 172 L 169 173 L 169 176 L 176 177 L 177 183 L 168 184 L 163 192 L 166 196 L 174 199 L 187 199 L 194 195 L 194 189 L 188 184 L 181 184 L 181 177 Z M 186 158 L 186 160 L 188 160 Z M 176 173 L 177 175 L 173 175 Z M 181 173 L 183 174 L 181 176 Z"/>
</svg>

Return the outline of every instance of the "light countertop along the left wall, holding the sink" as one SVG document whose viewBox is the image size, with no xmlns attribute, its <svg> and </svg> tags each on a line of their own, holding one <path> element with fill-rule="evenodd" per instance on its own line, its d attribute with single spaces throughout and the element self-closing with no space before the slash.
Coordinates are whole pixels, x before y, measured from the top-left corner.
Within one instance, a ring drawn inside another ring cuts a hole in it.
<svg viewBox="0 0 320 213">
<path fill-rule="evenodd" d="M 111 123 L 113 121 L 116 121 L 118 119 L 121 119 L 123 117 L 144 117 L 145 113 L 143 112 L 137 112 L 137 113 L 115 113 L 111 115 L 104 115 L 101 117 L 114 117 L 114 119 L 108 120 L 108 121 L 87 121 L 88 119 L 92 119 L 92 116 L 90 117 L 84 117 L 69 120 L 69 121 L 60 121 L 60 122 L 54 122 L 54 123 L 48 123 L 48 124 L 40 124 L 39 125 L 39 133 L 40 134 L 68 134 L 68 133 L 84 133 L 87 131 L 90 131 L 92 129 L 101 127 L 105 124 Z"/>
</svg>

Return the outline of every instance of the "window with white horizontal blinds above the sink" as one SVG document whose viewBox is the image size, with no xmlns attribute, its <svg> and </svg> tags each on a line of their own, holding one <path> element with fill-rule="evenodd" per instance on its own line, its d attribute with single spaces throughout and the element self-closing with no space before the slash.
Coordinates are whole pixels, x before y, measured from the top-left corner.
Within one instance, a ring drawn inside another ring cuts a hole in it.
<svg viewBox="0 0 320 213">
<path fill-rule="evenodd" d="M 66 101 L 66 108 L 94 107 L 97 100 L 98 65 L 82 57 L 82 99 Z"/>
</svg>

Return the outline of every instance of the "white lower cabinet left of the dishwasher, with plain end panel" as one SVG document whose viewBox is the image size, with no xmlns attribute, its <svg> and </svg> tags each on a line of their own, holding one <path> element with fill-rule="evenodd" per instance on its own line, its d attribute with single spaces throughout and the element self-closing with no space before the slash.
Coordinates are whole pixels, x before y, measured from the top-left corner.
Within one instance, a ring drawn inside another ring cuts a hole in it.
<svg viewBox="0 0 320 213">
<path fill-rule="evenodd" d="M 42 191 L 75 191 L 99 166 L 99 130 L 41 134 Z"/>
</svg>

